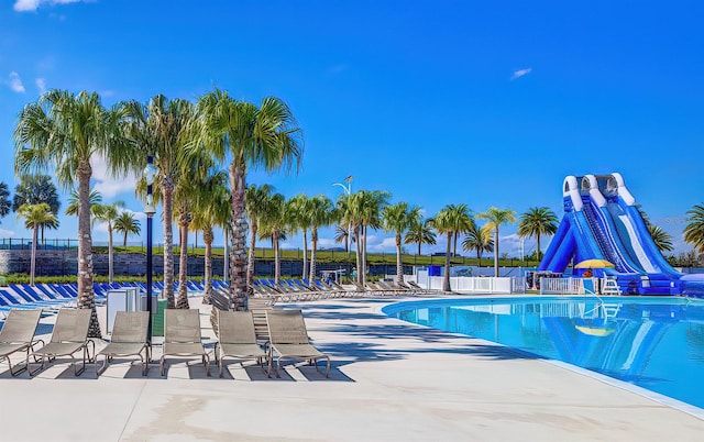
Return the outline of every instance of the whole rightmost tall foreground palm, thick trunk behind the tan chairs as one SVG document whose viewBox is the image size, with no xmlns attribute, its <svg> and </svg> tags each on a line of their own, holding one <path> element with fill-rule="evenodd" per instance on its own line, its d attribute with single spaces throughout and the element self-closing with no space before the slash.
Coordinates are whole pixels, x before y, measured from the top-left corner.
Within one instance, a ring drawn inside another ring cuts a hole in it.
<svg viewBox="0 0 704 442">
<path fill-rule="evenodd" d="M 235 310 L 246 310 L 244 190 L 248 168 L 274 172 L 299 167 L 301 131 L 288 106 L 273 97 L 263 99 L 257 107 L 216 89 L 198 100 L 197 113 L 200 130 L 197 147 L 205 146 L 220 162 L 230 158 L 230 298 Z"/>
</svg>

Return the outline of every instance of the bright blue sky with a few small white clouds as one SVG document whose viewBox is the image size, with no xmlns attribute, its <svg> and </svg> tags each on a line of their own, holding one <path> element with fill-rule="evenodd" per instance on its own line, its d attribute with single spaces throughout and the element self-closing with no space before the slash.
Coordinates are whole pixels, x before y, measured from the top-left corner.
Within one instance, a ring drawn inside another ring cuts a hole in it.
<svg viewBox="0 0 704 442">
<path fill-rule="evenodd" d="M 618 172 L 679 253 L 691 250 L 686 211 L 704 200 L 703 13 L 696 1 L 6 0 L 0 181 L 19 183 L 16 115 L 45 90 L 97 91 L 112 106 L 157 93 L 196 101 L 218 87 L 292 108 L 301 172 L 248 177 L 286 197 L 336 199 L 333 184 L 352 175 L 353 191 L 387 190 L 427 217 L 464 202 L 561 218 L 565 176 Z M 106 202 L 142 210 L 132 179 L 95 166 Z M 48 236 L 76 237 L 76 220 L 59 221 Z M 0 236 L 31 237 L 13 213 L 0 222 Z M 512 256 L 516 229 L 501 230 Z M 97 225 L 95 241 L 106 232 Z M 334 245 L 331 231 L 321 236 Z M 383 231 L 369 242 L 395 251 Z M 436 251 L 442 241 L 424 247 Z"/>
</svg>

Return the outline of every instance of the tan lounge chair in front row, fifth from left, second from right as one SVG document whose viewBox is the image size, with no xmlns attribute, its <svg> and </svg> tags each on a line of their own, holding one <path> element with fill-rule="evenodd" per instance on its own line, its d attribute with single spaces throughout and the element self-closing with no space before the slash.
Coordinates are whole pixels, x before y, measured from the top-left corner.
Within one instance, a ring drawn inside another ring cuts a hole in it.
<svg viewBox="0 0 704 442">
<path fill-rule="evenodd" d="M 256 343 L 251 311 L 218 310 L 218 342 L 215 354 L 220 377 L 222 377 L 226 357 L 256 360 L 264 369 L 263 361 L 266 358 L 266 353 Z"/>
</svg>

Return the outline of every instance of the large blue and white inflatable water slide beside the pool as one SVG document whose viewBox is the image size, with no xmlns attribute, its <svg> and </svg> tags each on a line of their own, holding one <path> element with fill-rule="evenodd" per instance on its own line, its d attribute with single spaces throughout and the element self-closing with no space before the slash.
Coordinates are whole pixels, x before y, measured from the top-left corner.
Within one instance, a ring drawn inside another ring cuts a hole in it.
<svg viewBox="0 0 704 442">
<path fill-rule="evenodd" d="M 564 273 L 568 265 L 598 258 L 614 263 L 624 292 L 679 292 L 682 276 L 664 259 L 619 174 L 569 176 L 563 184 L 564 217 L 539 270 Z"/>
</svg>

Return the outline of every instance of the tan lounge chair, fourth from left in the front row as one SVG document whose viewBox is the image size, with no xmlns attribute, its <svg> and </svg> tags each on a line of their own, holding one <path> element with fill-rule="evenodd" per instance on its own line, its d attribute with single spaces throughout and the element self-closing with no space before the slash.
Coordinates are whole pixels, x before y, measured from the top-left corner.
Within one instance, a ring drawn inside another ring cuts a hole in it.
<svg viewBox="0 0 704 442">
<path fill-rule="evenodd" d="M 210 376 L 210 358 L 200 340 L 200 317 L 198 310 L 164 310 L 164 351 L 160 361 L 162 376 L 165 372 L 166 356 L 200 356 Z"/>
</svg>

